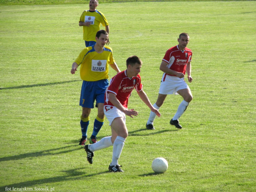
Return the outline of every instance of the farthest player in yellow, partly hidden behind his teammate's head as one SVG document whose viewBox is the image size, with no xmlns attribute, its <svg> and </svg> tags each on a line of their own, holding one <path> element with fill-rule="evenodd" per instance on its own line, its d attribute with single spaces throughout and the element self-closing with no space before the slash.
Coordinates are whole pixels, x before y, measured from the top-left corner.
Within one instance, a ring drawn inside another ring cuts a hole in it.
<svg viewBox="0 0 256 192">
<path fill-rule="evenodd" d="M 98 5 L 98 0 L 90 0 L 90 9 L 84 11 L 79 20 L 79 26 L 83 26 L 85 47 L 95 45 L 95 36 L 97 31 L 100 30 L 100 24 L 105 27 L 105 30 L 109 34 L 109 24 L 104 14 L 96 9 Z M 109 39 L 107 40 L 107 45 L 109 45 Z"/>
</svg>

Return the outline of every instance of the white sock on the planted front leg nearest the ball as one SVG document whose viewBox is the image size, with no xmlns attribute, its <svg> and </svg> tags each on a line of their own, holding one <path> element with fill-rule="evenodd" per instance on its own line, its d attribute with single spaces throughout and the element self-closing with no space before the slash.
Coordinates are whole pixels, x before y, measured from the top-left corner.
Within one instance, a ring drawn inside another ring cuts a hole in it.
<svg viewBox="0 0 256 192">
<path fill-rule="evenodd" d="M 116 140 L 114 141 L 114 144 L 113 144 L 113 156 L 112 156 L 111 166 L 118 165 L 118 159 L 123 150 L 123 145 L 125 141 L 126 139 L 123 137 L 120 137 L 120 136 L 116 137 Z"/>
</svg>

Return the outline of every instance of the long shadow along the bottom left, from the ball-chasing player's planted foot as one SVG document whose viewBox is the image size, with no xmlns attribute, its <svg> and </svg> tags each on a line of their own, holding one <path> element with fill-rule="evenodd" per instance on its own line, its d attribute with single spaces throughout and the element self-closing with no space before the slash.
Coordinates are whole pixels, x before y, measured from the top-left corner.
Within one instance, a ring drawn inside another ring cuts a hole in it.
<svg viewBox="0 0 256 192">
<path fill-rule="evenodd" d="M 55 176 L 55 177 L 43 178 L 43 179 L 37 179 L 37 180 L 29 180 L 29 181 L 24 181 L 24 182 L 20 182 L 20 183 L 14 183 L 14 184 L 10 184 L 10 185 L 0 186 L 0 191 L 5 191 L 6 187 L 32 188 L 32 187 L 37 187 L 38 185 L 42 185 L 42 184 L 48 184 L 47 187 L 50 190 L 50 188 L 53 187 L 53 186 L 49 185 L 50 183 L 52 183 L 52 185 L 55 185 L 54 183 L 69 181 L 69 180 L 86 180 L 86 178 L 90 178 L 95 175 L 109 173 L 109 171 L 104 171 L 101 173 L 94 173 L 94 174 L 86 175 L 86 173 L 84 171 L 81 171 L 81 169 L 85 169 L 85 168 L 76 168 L 76 169 L 70 169 L 67 171 L 62 171 L 63 173 L 66 173 L 65 175 L 62 175 L 62 176 Z M 31 178 L 33 178 L 33 177 L 31 177 Z M 56 187 L 55 187 L 55 190 L 61 191 L 61 189 L 57 189 Z"/>
</svg>

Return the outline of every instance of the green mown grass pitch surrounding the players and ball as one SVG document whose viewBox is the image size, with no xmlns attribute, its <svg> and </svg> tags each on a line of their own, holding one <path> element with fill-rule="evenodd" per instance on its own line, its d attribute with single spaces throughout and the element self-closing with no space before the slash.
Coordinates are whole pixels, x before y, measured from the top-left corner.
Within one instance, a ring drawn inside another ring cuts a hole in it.
<svg viewBox="0 0 256 192">
<path fill-rule="evenodd" d="M 79 73 L 71 64 L 84 47 L 78 20 L 88 5 L 0 6 L 0 191 L 254 192 L 256 191 L 256 2 L 127 2 L 100 4 L 121 70 L 130 55 L 142 61 L 142 83 L 156 101 L 166 50 L 190 34 L 194 99 L 169 95 L 156 130 L 145 130 L 149 109 L 133 92 L 129 136 L 109 173 L 112 148 L 88 164 L 81 137 Z M 114 71 L 109 71 L 114 76 Z M 92 110 L 88 134 L 92 133 Z M 110 135 L 105 121 L 98 137 Z M 155 174 L 164 157 L 169 168 Z M 41 189 L 40 189 L 41 188 Z"/>
</svg>

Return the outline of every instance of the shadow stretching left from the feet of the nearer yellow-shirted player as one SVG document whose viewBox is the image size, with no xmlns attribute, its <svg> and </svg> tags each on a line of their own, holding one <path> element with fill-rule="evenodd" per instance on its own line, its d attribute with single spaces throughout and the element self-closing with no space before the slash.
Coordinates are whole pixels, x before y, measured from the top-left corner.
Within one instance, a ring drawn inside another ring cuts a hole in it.
<svg viewBox="0 0 256 192">
<path fill-rule="evenodd" d="M 1 161 L 14 161 L 14 160 L 25 159 L 25 158 L 29 158 L 29 157 L 58 155 L 58 154 L 69 153 L 69 152 L 81 149 L 81 148 L 69 149 L 70 147 L 77 147 L 77 145 L 70 145 L 70 146 L 66 146 L 66 147 L 59 147 L 56 149 L 48 149 L 48 150 L 43 150 L 43 151 L 39 151 L 39 152 L 31 152 L 31 153 L 24 153 L 24 154 L 19 154 L 19 155 L 14 155 L 14 156 L 2 157 L 2 158 L 0 158 L 0 162 Z M 61 151 L 59 151 L 59 150 L 61 150 Z"/>
</svg>

